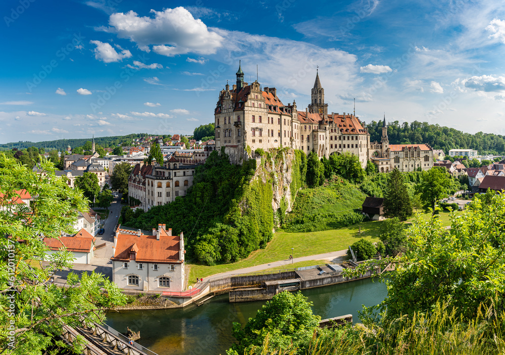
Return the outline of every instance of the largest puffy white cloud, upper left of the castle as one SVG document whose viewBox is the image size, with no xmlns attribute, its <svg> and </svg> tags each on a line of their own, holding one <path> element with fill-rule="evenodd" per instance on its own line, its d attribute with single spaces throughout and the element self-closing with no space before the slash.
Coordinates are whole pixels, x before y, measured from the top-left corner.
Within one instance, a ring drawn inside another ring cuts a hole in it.
<svg viewBox="0 0 505 355">
<path fill-rule="evenodd" d="M 205 23 L 195 20 L 182 7 L 150 12 L 154 18 L 140 17 L 133 11 L 112 14 L 111 27 L 101 29 L 130 39 L 142 50 L 148 51 L 149 45 L 153 45 L 156 53 L 168 57 L 186 53 L 214 54 L 222 46 L 223 37 L 209 31 Z"/>
</svg>

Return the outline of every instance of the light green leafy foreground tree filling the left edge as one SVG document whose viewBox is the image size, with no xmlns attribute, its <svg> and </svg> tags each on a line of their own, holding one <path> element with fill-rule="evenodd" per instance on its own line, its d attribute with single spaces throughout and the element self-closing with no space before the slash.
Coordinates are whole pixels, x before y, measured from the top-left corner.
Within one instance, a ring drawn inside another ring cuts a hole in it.
<svg viewBox="0 0 505 355">
<path fill-rule="evenodd" d="M 0 199 L 0 347 L 12 355 L 51 353 L 63 324 L 82 325 L 82 315 L 101 323 L 107 309 L 124 305 L 126 300 L 115 284 L 94 272 L 83 273 L 80 278 L 71 272 L 64 288 L 49 282 L 57 270 L 72 269 L 73 258 L 68 251 L 48 258 L 40 235 L 58 238 L 62 233 L 74 234 L 78 211 L 87 211 L 88 207 L 80 190 L 55 176 L 51 163 L 44 160 L 41 167 L 46 176 L 32 173 L 0 153 L 0 193 L 6 197 Z M 7 202 L 21 189 L 34 199 L 30 208 Z M 48 265 L 32 267 L 35 260 L 43 258 Z M 9 311 L 12 304 L 14 316 Z M 9 338 L 10 331 L 14 339 Z M 81 352 L 79 343 L 58 342 L 57 347 L 66 348 L 59 353 Z"/>
</svg>

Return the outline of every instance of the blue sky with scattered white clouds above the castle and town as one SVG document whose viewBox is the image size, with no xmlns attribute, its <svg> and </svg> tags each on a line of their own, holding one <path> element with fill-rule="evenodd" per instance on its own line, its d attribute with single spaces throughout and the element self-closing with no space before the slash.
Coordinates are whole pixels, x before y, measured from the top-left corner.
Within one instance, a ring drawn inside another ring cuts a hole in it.
<svg viewBox="0 0 505 355">
<path fill-rule="evenodd" d="M 245 80 L 328 111 L 505 134 L 505 3 L 17 0 L 0 4 L 0 143 L 214 121 Z"/>
</svg>

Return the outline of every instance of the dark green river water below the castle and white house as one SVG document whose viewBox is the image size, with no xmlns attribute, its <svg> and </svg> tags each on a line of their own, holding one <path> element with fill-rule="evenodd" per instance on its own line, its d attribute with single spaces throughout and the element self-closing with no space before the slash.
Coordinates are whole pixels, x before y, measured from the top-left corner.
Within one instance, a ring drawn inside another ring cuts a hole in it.
<svg viewBox="0 0 505 355">
<path fill-rule="evenodd" d="M 356 323 L 362 305 L 377 305 L 387 291 L 378 279 L 364 279 L 302 293 L 314 303 L 313 311 L 321 319 L 351 314 Z M 228 294 L 223 294 L 200 307 L 110 312 L 106 323 L 122 333 L 127 326 L 139 330 L 137 342 L 159 355 L 224 355 L 234 341 L 232 322 L 244 325 L 265 302 L 229 303 Z"/>
</svg>

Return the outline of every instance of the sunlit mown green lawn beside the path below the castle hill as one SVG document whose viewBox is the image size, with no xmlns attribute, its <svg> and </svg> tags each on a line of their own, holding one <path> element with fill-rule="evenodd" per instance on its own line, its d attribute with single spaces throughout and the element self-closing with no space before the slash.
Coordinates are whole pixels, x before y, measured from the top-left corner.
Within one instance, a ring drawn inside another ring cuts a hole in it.
<svg viewBox="0 0 505 355">
<path fill-rule="evenodd" d="M 462 213 L 462 211 L 457 211 L 456 215 L 458 216 Z M 422 214 L 422 217 L 430 218 L 431 215 Z M 450 225 L 448 212 L 441 212 L 439 218 L 441 219 L 444 226 Z M 414 216 L 407 222 L 413 222 L 415 220 L 416 217 Z M 278 231 L 274 234 L 272 241 L 268 243 L 265 249 L 256 250 L 252 252 L 247 259 L 240 260 L 236 263 L 216 266 L 195 265 L 188 263 L 188 266 L 191 267 L 189 272 L 189 284 L 192 284 L 192 280 L 194 280 L 197 276 L 203 278 L 226 271 L 248 268 L 251 266 L 267 264 L 279 260 L 287 260 L 291 254 L 291 248 L 293 248 L 293 257 L 298 258 L 347 249 L 349 245 L 355 241 L 358 241 L 360 238 L 377 241 L 378 227 L 380 223 L 381 222 L 379 221 L 364 222 L 345 228 L 308 233 L 287 233 L 284 231 Z M 359 233 L 360 226 L 361 234 Z M 309 262 L 309 264 L 300 266 L 319 264 L 318 262 L 315 264 L 311 263 L 312 261 Z M 286 267 L 283 266 L 281 269 L 285 269 Z M 278 269 L 273 268 L 269 270 Z"/>
</svg>

